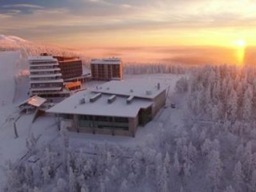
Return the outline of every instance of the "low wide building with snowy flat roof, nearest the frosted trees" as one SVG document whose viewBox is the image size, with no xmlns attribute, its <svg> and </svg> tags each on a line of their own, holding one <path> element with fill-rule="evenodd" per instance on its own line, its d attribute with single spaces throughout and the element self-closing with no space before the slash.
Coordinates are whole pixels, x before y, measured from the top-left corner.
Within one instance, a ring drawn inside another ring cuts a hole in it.
<svg viewBox="0 0 256 192">
<path fill-rule="evenodd" d="M 135 136 L 166 102 L 166 88 L 157 82 L 109 81 L 83 90 L 47 110 L 70 131 Z"/>
</svg>

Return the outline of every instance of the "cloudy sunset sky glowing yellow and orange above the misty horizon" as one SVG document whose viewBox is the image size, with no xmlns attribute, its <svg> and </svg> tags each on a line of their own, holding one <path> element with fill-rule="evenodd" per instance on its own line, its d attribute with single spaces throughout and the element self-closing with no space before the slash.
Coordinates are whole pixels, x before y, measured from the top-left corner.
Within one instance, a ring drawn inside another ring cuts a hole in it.
<svg viewBox="0 0 256 192">
<path fill-rule="evenodd" d="M 241 57 L 237 41 L 256 46 L 255 10 L 253 0 L 4 0 L 0 33 L 94 54 L 109 47 L 204 46 L 239 48 Z"/>
</svg>

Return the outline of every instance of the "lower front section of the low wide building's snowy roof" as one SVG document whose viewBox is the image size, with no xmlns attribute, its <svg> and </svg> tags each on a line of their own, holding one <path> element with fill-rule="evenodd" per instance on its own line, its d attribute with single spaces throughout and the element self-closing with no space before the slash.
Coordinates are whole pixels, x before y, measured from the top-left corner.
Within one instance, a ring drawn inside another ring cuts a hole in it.
<svg viewBox="0 0 256 192">
<path fill-rule="evenodd" d="M 56 104 L 48 113 L 76 114 L 76 115 L 99 115 L 99 116 L 120 116 L 136 117 L 141 108 L 148 108 L 153 104 L 150 100 L 134 99 L 127 104 L 127 97 L 116 97 L 115 101 L 108 103 L 109 95 L 102 94 L 94 102 L 90 99 L 95 93 L 89 90 L 77 92 L 74 95 Z M 83 102 L 82 102 L 83 100 Z"/>
</svg>

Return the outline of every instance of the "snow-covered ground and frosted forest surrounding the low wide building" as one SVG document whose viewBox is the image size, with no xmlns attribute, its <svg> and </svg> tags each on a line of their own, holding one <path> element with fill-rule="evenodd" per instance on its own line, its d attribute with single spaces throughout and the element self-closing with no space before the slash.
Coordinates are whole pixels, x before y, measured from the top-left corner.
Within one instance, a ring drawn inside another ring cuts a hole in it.
<svg viewBox="0 0 256 192">
<path fill-rule="evenodd" d="M 207 65 L 189 76 L 126 68 L 127 81 L 170 86 L 166 107 L 135 138 L 58 131 L 53 115 L 33 124 L 22 115 L 17 139 L 26 63 L 19 51 L 0 52 L 0 67 L 0 191 L 256 191 L 256 67 Z"/>
</svg>

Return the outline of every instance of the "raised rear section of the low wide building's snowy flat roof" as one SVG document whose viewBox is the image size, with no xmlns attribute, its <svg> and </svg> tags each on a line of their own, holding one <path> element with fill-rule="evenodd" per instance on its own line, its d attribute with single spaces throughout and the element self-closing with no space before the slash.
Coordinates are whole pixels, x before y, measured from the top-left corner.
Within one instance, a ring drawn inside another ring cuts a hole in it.
<svg viewBox="0 0 256 192">
<path fill-rule="evenodd" d="M 143 79 L 143 81 L 138 81 L 138 79 L 135 81 L 109 81 L 97 86 L 92 92 L 154 99 L 167 88 L 161 81 L 152 81 L 150 79 Z"/>
</svg>

